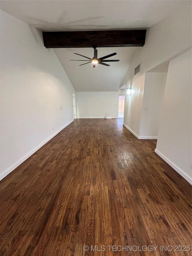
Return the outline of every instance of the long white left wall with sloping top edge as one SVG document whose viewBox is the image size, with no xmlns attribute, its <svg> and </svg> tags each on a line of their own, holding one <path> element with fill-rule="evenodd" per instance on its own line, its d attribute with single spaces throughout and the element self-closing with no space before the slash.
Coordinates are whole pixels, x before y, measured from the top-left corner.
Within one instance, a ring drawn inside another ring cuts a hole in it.
<svg viewBox="0 0 192 256">
<path fill-rule="evenodd" d="M 1 11 L 0 179 L 73 120 L 74 92 L 42 33 Z"/>
</svg>

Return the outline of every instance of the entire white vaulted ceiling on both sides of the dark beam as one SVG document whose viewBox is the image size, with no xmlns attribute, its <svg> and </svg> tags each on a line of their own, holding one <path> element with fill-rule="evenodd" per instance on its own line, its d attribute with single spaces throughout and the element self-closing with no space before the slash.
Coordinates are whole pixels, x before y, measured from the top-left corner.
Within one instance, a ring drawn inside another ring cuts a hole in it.
<svg viewBox="0 0 192 256">
<path fill-rule="evenodd" d="M 0 8 L 41 31 L 146 29 L 182 8 L 183 1 L 40 0 L 1 1 Z M 98 48 L 98 56 L 116 52 L 110 67 L 79 65 L 73 53 L 93 57 L 92 48 L 54 49 L 76 91 L 117 91 L 140 47 Z M 113 59 L 113 57 L 110 57 Z M 109 58 L 109 59 L 110 59 Z M 81 57 L 79 56 L 79 59 Z"/>
</svg>

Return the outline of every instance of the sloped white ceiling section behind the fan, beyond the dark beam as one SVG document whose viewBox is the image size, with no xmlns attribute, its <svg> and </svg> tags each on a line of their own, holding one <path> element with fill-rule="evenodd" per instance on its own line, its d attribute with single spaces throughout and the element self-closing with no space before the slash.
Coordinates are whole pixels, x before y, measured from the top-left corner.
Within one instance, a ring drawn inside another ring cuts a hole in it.
<svg viewBox="0 0 192 256">
<path fill-rule="evenodd" d="M 91 63 L 79 66 L 86 63 L 87 59 L 74 54 L 78 53 L 93 58 L 93 48 L 55 48 L 54 52 L 77 92 L 114 92 L 118 91 L 136 48 L 140 47 L 97 48 L 98 58 L 116 52 L 117 55 L 108 59 L 119 59 L 120 61 L 107 62 L 110 67 L 96 64 L 95 68 L 93 68 Z M 70 59 L 85 59 L 85 62 L 70 61 Z"/>
</svg>

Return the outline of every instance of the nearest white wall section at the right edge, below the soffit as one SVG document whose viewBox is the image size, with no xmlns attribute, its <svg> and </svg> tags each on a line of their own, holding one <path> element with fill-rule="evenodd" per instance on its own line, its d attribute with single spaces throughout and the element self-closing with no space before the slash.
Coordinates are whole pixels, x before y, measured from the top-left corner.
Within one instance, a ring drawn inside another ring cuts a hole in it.
<svg viewBox="0 0 192 256">
<path fill-rule="evenodd" d="M 169 63 L 155 152 L 188 182 L 191 179 L 191 50 Z"/>
</svg>

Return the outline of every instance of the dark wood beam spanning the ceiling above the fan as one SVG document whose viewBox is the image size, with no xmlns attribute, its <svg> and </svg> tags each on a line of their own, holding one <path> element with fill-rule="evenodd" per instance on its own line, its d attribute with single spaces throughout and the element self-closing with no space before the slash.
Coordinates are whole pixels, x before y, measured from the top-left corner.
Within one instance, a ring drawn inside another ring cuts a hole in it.
<svg viewBox="0 0 192 256">
<path fill-rule="evenodd" d="M 146 30 L 43 32 L 46 48 L 132 47 L 145 44 Z"/>
</svg>

